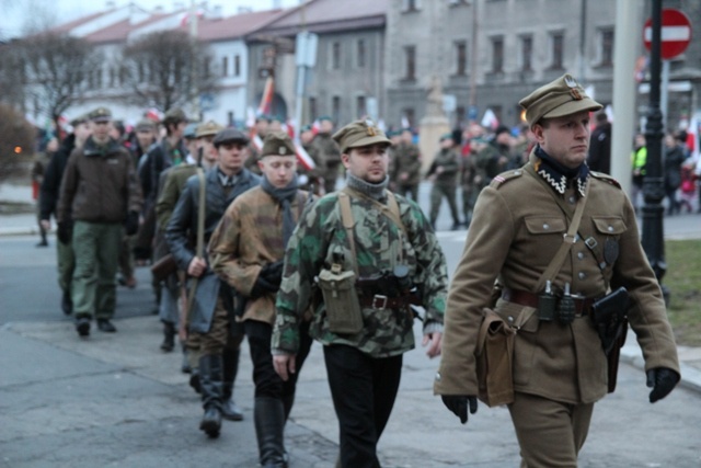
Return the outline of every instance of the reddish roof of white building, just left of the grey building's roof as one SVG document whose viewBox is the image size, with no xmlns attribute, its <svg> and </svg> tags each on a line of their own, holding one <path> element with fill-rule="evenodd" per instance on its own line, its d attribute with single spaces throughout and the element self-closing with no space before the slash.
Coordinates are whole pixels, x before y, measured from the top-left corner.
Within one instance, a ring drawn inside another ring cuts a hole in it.
<svg viewBox="0 0 701 468">
<path fill-rule="evenodd" d="M 275 9 L 239 13 L 220 19 L 200 19 L 197 24 L 197 37 L 200 41 L 225 41 L 245 36 L 284 14 L 285 10 Z M 187 24 L 181 26 L 187 30 Z"/>
</svg>

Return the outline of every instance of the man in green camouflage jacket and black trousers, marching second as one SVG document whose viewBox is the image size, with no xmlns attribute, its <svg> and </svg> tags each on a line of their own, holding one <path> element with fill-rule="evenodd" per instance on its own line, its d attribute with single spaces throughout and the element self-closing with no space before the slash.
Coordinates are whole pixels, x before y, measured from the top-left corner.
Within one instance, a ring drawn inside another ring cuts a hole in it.
<svg viewBox="0 0 701 468">
<path fill-rule="evenodd" d="M 390 141 L 384 134 L 371 121 L 357 121 L 333 138 L 347 170 L 346 187 L 308 208 L 292 233 L 272 347 L 275 369 L 286 380 L 296 369 L 300 326 L 311 305 L 309 333 L 324 345 L 338 416 L 340 465 L 377 467 L 377 443 L 397 397 L 402 354 L 414 347 L 411 305 L 426 309 L 428 356 L 440 353 L 446 261 L 418 205 L 387 190 Z M 345 278 L 348 304 L 333 301 L 332 293 L 320 297 L 315 277 L 330 279 L 324 287 Z"/>
</svg>

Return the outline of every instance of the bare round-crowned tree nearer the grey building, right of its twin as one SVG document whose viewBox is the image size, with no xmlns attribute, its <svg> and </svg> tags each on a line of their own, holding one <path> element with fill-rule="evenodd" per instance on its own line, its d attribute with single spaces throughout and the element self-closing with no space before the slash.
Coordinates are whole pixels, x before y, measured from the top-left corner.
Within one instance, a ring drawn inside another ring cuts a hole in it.
<svg viewBox="0 0 701 468">
<path fill-rule="evenodd" d="M 160 31 L 123 52 L 122 79 L 131 104 L 168 111 L 184 106 L 217 84 L 211 54 L 185 32 Z"/>
</svg>

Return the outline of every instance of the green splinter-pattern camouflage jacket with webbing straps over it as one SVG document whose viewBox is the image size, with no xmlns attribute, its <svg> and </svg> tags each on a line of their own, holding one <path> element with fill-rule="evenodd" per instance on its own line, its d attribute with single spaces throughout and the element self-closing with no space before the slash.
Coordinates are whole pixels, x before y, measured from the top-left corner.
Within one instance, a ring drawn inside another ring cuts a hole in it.
<svg viewBox="0 0 701 468">
<path fill-rule="evenodd" d="M 424 329 L 432 327 L 433 331 L 443 331 L 448 283 L 445 256 L 418 205 L 400 195 L 395 198 L 409 239 L 371 202 L 352 197 L 358 274 L 367 277 L 391 270 L 400 263 L 401 256 L 422 294 L 426 309 Z M 323 267 L 330 266 L 333 253 L 341 253 L 345 259 L 344 269 L 353 270 L 350 247 L 337 199 L 337 193 L 332 193 L 307 208 L 287 246 L 272 347 L 297 352 L 300 317 L 314 299 L 309 332 L 321 343 L 355 346 L 374 357 L 404 353 L 414 347 L 413 318 L 407 312 L 364 308 L 363 330 L 354 335 L 338 335 L 329 330 L 326 307 L 321 295 L 312 297 L 317 295 L 314 277 Z"/>
</svg>

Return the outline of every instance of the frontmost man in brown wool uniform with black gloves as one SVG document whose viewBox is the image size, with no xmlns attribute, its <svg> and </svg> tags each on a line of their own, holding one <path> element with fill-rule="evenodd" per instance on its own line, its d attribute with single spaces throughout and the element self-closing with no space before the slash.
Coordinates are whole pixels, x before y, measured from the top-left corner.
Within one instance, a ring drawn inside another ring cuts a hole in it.
<svg viewBox="0 0 701 468">
<path fill-rule="evenodd" d="M 594 301 L 613 297 L 609 293 L 621 286 L 628 289 L 628 320 L 645 356 L 651 402 L 674 389 L 679 363 L 633 207 L 613 179 L 590 172 L 585 163 L 589 112 L 601 105 L 570 75 L 520 104 L 538 146 L 527 165 L 499 174 L 478 198 L 450 286 L 434 390 L 462 423 L 468 408 L 476 411 L 478 335 L 483 309 L 493 307 L 498 318 L 518 326 L 506 373 L 514 391 L 505 402 L 521 466 L 574 467 L 594 403 L 612 384 L 604 343 L 589 317 Z M 579 214 L 578 229 L 567 233 Z M 567 248 L 559 256 L 564 261 L 552 267 L 563 238 Z M 554 273 L 543 274 L 549 271 Z M 543 278 L 551 282 L 552 294 L 539 286 Z M 501 297 L 493 295 L 495 279 L 503 287 Z"/>
</svg>

